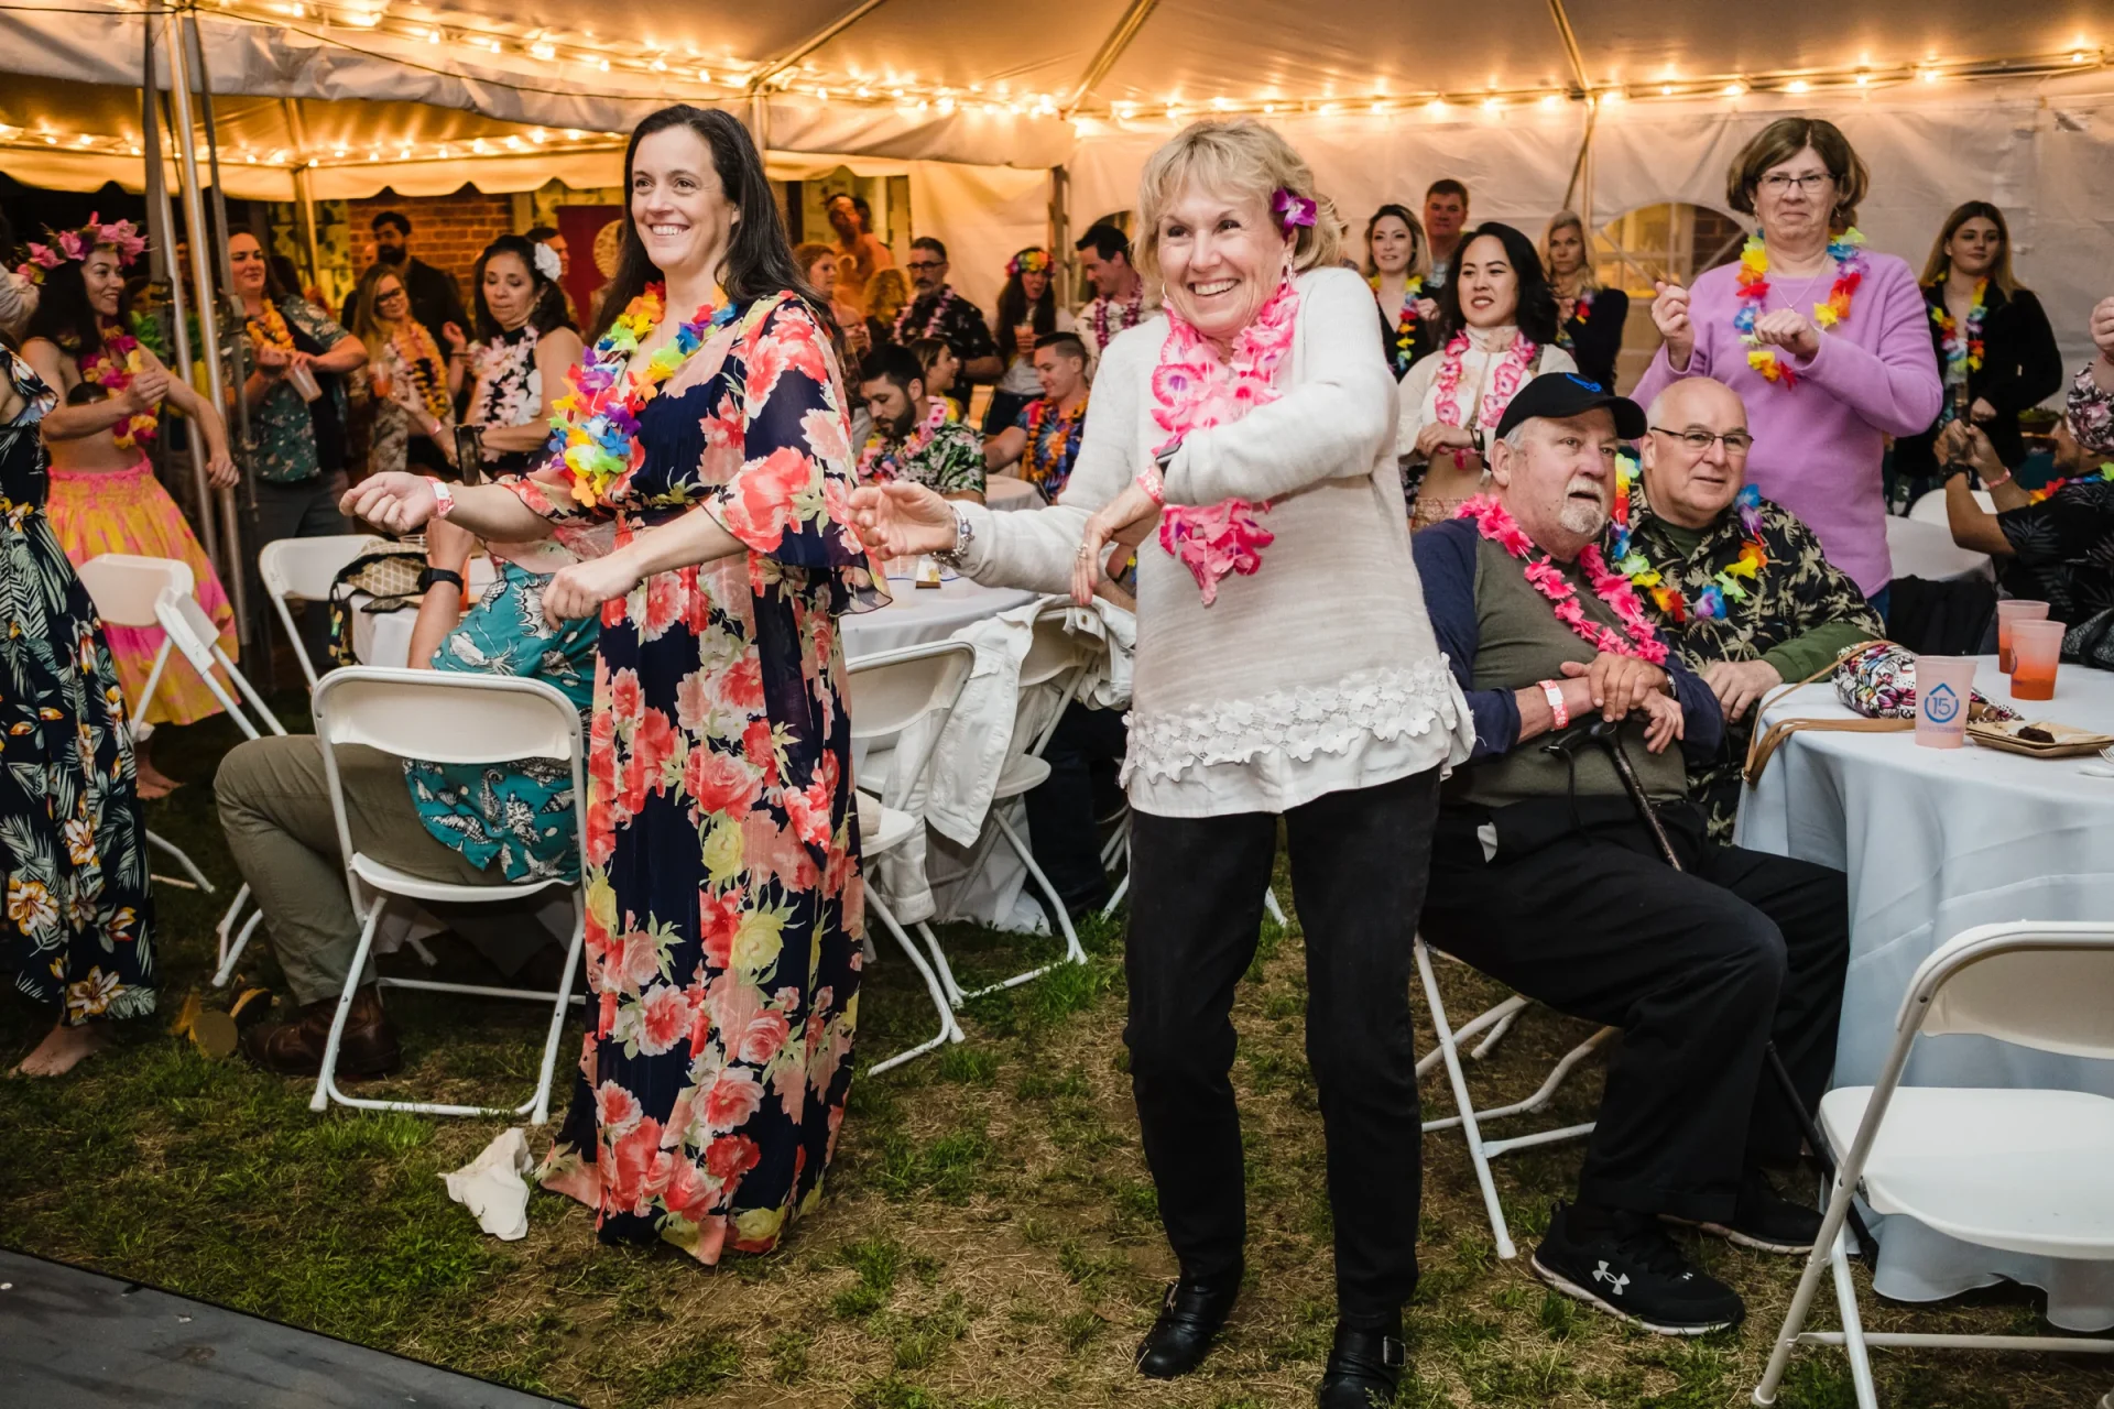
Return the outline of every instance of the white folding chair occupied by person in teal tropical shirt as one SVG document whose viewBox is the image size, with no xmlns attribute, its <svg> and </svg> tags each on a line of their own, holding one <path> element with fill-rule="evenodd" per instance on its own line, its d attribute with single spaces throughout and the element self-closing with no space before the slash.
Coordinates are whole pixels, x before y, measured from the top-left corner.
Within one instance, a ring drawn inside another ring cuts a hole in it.
<svg viewBox="0 0 2114 1409">
<path fill-rule="evenodd" d="M 435 670 L 385 670 L 351 665 L 334 670 L 315 687 L 315 735 L 323 746 L 323 777 L 330 784 L 330 813 L 338 826 L 338 849 L 345 856 L 345 885 L 359 917 L 359 948 L 345 970 L 345 993 L 330 1022 L 323 1046 L 323 1071 L 315 1079 L 311 1111 L 323 1111 L 332 1101 L 364 1111 L 414 1111 L 419 1115 L 528 1115 L 541 1126 L 550 1117 L 550 1079 L 558 1060 L 558 1033 L 573 1001 L 573 974 L 586 938 L 588 877 L 588 779 L 586 741 L 579 731 L 579 710 L 554 684 L 518 676 L 471 676 Z M 364 744 L 397 758 L 427 763 L 495 765 L 518 758 L 550 758 L 573 771 L 573 830 L 579 849 L 579 881 L 520 881 L 503 885 L 452 885 L 427 881 L 397 870 L 353 847 L 345 815 L 345 786 L 338 779 L 336 750 Z M 366 974 L 374 948 L 374 927 L 395 898 L 446 904 L 512 904 L 564 885 L 573 891 L 573 940 L 564 955 L 564 976 L 556 993 L 537 989 L 499 989 L 457 984 L 431 978 L 389 978 L 376 982 L 391 989 L 427 989 L 433 993 L 467 993 L 474 997 L 507 997 L 550 1003 L 550 1033 L 543 1039 L 543 1065 L 535 1094 L 518 1107 L 433 1105 L 425 1101 L 366 1101 L 338 1090 L 338 1041 L 345 1018 L 353 1010 L 353 993 Z"/>
</svg>

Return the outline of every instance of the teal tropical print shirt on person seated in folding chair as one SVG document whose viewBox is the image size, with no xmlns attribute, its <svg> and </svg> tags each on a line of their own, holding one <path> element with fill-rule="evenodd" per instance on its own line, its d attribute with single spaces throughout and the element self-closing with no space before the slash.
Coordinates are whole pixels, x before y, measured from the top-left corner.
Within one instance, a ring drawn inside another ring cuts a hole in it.
<svg viewBox="0 0 2114 1409">
<path fill-rule="evenodd" d="M 433 653 L 433 670 L 543 680 L 564 691 L 581 729 L 594 706 L 594 642 L 598 617 L 543 621 L 543 583 L 518 564 L 499 577 Z M 404 782 L 435 839 L 478 868 L 497 862 L 507 881 L 577 881 L 579 834 L 573 826 L 573 769 L 556 758 L 495 765 L 404 760 Z"/>
</svg>

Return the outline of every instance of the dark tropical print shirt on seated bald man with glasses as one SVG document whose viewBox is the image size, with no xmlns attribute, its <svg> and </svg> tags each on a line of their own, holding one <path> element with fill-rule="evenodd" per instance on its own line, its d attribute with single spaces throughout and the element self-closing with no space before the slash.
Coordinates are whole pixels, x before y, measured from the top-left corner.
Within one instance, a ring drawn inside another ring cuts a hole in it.
<svg viewBox="0 0 2114 1409">
<path fill-rule="evenodd" d="M 1693 539 L 1651 511 L 1643 482 L 1630 501 L 1630 553 L 1657 575 L 1634 577 L 1638 600 L 1689 670 L 1719 661 L 1769 661 L 1801 680 L 1837 651 L 1886 636 L 1879 613 L 1850 577 L 1820 551 L 1820 539 L 1791 509 L 1753 486 Z M 1761 545 L 1761 562 L 1748 541 Z M 1613 556 L 1611 556 L 1613 558 Z M 1702 615 L 1710 613 L 1710 615 Z M 1710 818 L 1710 839 L 1729 843 L 1740 813 L 1740 769 L 1755 731 L 1755 710 L 1725 720 L 1725 746 L 1706 763 L 1689 760 L 1689 799 Z"/>
</svg>

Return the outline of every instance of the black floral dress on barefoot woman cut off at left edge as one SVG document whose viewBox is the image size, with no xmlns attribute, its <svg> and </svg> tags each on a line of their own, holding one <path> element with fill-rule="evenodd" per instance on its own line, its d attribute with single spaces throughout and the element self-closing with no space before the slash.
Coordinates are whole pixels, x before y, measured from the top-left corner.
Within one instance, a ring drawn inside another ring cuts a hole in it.
<svg viewBox="0 0 2114 1409">
<path fill-rule="evenodd" d="M 78 1027 L 154 1012 L 154 898 L 125 695 L 89 589 L 44 520 L 38 420 L 57 397 L 0 346 L 27 406 L 0 425 L 0 967 Z"/>
</svg>

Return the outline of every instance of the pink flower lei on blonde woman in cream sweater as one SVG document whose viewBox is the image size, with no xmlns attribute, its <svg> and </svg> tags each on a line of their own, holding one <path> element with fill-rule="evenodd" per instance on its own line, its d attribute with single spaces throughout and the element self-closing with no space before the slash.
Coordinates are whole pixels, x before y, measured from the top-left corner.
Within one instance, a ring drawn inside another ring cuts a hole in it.
<svg viewBox="0 0 2114 1409">
<path fill-rule="evenodd" d="M 1285 279 L 1256 321 L 1232 340 L 1232 357 L 1222 361 L 1188 319 L 1167 308 L 1167 340 L 1161 342 L 1161 363 L 1152 370 L 1152 420 L 1169 433 L 1158 454 L 1192 431 L 1230 425 L 1277 399 L 1277 368 L 1292 351 L 1298 311 L 1300 294 Z M 1268 507 L 1226 499 L 1161 511 L 1161 547 L 1190 570 L 1205 606 L 1218 600 L 1218 583 L 1228 572 L 1247 577 L 1262 568 L 1262 549 L 1277 541 L 1258 522 Z"/>
</svg>

